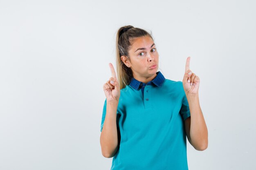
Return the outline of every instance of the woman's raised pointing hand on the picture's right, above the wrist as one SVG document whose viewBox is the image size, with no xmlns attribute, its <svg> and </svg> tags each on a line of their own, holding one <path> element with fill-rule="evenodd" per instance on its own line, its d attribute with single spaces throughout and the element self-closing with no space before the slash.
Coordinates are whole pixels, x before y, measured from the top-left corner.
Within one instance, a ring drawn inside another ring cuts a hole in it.
<svg viewBox="0 0 256 170">
<path fill-rule="evenodd" d="M 189 70 L 190 57 L 186 59 L 185 74 L 182 81 L 184 91 L 186 95 L 198 94 L 200 79 L 195 73 Z"/>
</svg>

